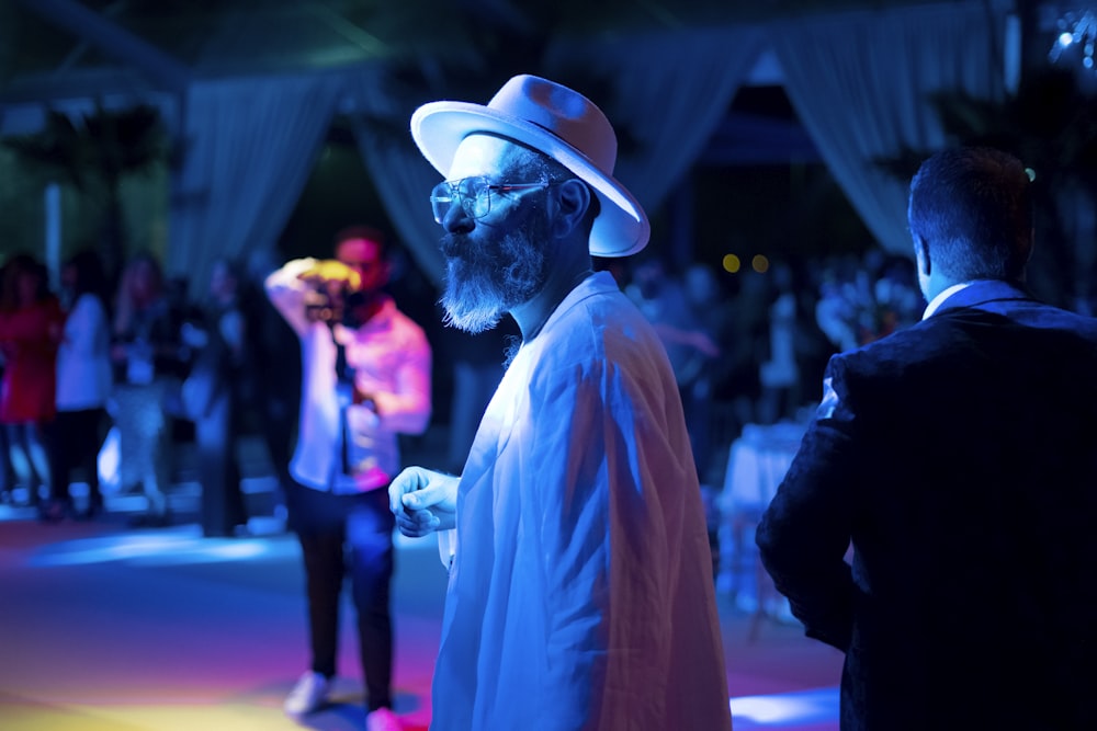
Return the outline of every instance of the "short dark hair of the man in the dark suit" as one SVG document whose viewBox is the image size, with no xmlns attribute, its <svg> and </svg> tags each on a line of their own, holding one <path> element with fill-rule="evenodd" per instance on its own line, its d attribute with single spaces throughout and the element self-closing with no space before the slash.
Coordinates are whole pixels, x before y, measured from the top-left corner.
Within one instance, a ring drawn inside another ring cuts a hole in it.
<svg viewBox="0 0 1097 731">
<path fill-rule="evenodd" d="M 1020 160 L 986 147 L 934 155 L 911 181 L 911 235 L 955 281 L 1019 279 L 1032 247 L 1032 191 Z"/>
</svg>

